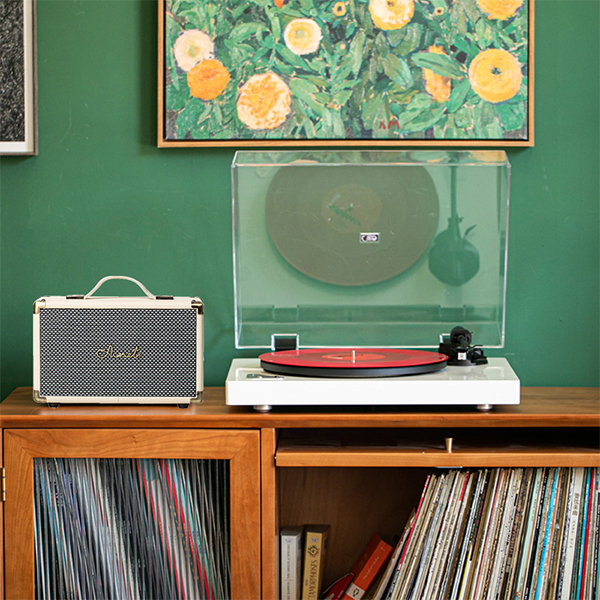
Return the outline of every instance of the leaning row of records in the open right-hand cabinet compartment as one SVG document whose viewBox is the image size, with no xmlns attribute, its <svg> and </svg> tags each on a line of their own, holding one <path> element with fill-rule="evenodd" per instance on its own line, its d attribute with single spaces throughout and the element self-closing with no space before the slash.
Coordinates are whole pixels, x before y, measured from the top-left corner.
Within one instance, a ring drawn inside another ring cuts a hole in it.
<svg viewBox="0 0 600 600">
<path fill-rule="evenodd" d="M 378 600 L 598 598 L 600 469 L 430 475 Z"/>
</svg>

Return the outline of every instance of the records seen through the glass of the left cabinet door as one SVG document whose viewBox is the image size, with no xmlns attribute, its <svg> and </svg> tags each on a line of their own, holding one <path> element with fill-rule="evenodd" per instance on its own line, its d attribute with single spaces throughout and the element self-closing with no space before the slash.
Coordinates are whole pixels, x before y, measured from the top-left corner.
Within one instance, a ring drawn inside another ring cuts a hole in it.
<svg viewBox="0 0 600 600">
<path fill-rule="evenodd" d="M 36 598 L 228 598 L 228 469 L 35 459 Z"/>
</svg>

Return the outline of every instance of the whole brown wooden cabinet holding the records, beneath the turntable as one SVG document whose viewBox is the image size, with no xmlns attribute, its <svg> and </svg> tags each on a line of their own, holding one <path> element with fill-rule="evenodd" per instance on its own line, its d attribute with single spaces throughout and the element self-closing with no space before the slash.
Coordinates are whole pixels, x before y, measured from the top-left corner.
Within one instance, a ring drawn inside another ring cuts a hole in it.
<svg viewBox="0 0 600 600">
<path fill-rule="evenodd" d="M 270 414 L 227 407 L 222 388 L 187 409 L 48 408 L 19 388 L 0 404 L 0 426 L 6 598 L 33 597 L 36 457 L 230 461 L 231 589 L 245 600 L 277 597 L 280 526 L 331 524 L 325 579 L 334 579 L 374 531 L 401 531 L 432 468 L 600 466 L 600 401 L 591 388 L 524 388 L 520 405 L 489 413 L 428 407 Z"/>
</svg>

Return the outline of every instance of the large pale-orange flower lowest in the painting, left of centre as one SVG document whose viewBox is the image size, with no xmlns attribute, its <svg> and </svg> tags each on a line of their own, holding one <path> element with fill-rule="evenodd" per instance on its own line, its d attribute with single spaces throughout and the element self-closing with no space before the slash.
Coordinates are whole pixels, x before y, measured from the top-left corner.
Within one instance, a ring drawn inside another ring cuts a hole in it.
<svg viewBox="0 0 600 600">
<path fill-rule="evenodd" d="M 269 71 L 253 75 L 240 88 L 238 117 L 250 129 L 275 129 L 286 120 L 292 105 L 290 88 Z"/>
</svg>

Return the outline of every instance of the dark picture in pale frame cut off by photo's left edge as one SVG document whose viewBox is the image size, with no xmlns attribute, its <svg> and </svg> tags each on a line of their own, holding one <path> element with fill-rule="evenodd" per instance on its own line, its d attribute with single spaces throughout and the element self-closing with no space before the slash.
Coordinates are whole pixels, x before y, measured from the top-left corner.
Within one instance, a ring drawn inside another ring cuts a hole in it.
<svg viewBox="0 0 600 600">
<path fill-rule="evenodd" d="M 34 0 L 0 2 L 0 154 L 37 154 Z"/>
</svg>

